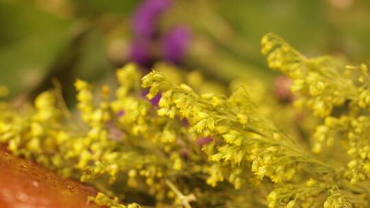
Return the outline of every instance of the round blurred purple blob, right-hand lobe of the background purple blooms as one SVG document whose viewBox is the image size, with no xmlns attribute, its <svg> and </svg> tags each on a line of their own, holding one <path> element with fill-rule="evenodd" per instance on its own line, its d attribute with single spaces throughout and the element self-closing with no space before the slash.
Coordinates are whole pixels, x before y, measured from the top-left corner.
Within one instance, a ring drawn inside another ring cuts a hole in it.
<svg viewBox="0 0 370 208">
<path fill-rule="evenodd" d="M 190 31 L 186 27 L 175 27 L 162 39 L 164 60 L 177 63 L 182 60 L 190 42 Z"/>
</svg>

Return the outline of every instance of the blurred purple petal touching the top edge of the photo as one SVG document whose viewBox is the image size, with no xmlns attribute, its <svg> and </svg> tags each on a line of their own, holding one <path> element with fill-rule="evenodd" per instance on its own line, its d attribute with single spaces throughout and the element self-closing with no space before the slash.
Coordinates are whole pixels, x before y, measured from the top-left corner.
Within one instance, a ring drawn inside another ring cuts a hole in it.
<svg viewBox="0 0 370 208">
<path fill-rule="evenodd" d="M 160 14 L 167 10 L 170 4 L 170 0 L 146 0 L 141 3 L 132 18 L 134 33 L 146 38 L 153 36 Z"/>
</svg>

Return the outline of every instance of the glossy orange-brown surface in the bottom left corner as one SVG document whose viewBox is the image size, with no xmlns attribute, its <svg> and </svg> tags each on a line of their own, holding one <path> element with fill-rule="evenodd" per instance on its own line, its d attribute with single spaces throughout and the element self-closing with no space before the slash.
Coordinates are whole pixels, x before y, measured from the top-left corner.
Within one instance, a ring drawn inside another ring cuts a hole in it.
<svg viewBox="0 0 370 208">
<path fill-rule="evenodd" d="M 97 192 L 11 155 L 0 144 L 0 208 L 84 208 Z"/>
</svg>

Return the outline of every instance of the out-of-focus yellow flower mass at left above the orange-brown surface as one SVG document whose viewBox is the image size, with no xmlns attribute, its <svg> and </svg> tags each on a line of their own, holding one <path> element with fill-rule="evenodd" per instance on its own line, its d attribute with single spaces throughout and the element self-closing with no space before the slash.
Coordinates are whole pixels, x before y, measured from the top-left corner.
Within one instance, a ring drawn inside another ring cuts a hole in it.
<svg viewBox="0 0 370 208">
<path fill-rule="evenodd" d="M 199 200 L 202 207 L 231 201 L 232 197 L 207 198 L 234 188 L 225 183 L 220 190 L 208 190 L 208 177 L 218 169 L 192 139 L 194 133 L 184 120 L 158 116 L 158 108 L 142 96 L 138 66 L 127 64 L 116 75 L 115 96 L 108 86 L 93 88 L 77 79 L 77 109 L 84 123 L 63 114 L 58 90 L 40 94 L 34 108 L 1 105 L 0 141 L 14 154 L 35 159 L 63 177 L 121 196 L 110 200 L 98 194 L 92 200 L 101 205 L 120 207 L 118 200 L 147 203 L 147 198 L 157 207 L 186 205 L 197 198 L 204 198 Z M 236 176 L 231 180 L 240 183 Z M 177 194 L 169 181 L 178 187 Z M 124 198 L 126 194 L 136 197 Z"/>
</svg>

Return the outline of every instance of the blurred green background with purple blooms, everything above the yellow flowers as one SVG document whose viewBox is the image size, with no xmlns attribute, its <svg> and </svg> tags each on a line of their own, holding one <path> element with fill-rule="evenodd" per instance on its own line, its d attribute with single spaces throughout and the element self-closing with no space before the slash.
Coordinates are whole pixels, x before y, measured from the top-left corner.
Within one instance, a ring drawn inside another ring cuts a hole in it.
<svg viewBox="0 0 370 208">
<path fill-rule="evenodd" d="M 308 56 L 370 64 L 368 0 L 0 0 L 0 26 L 8 99 L 32 99 L 56 78 L 71 105 L 76 77 L 109 83 L 127 62 L 271 84 L 260 54 L 270 31 Z"/>
</svg>

